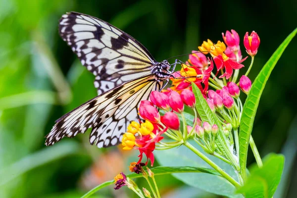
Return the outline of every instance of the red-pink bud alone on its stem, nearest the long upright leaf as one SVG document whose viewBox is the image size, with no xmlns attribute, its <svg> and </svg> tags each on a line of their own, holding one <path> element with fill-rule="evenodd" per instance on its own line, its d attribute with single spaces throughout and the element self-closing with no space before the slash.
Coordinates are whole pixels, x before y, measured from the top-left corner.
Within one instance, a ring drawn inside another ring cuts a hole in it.
<svg viewBox="0 0 297 198">
<path fill-rule="evenodd" d="M 255 31 L 252 31 L 250 36 L 248 36 L 247 32 L 244 37 L 244 45 L 247 50 L 247 53 L 250 56 L 254 56 L 257 54 L 260 45 L 260 37 L 257 35 Z"/>
</svg>

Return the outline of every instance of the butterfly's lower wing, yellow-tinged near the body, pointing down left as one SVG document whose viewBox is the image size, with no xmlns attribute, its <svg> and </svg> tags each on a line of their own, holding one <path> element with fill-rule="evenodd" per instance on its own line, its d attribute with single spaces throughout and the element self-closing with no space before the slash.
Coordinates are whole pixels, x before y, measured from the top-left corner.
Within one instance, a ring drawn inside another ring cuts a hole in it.
<svg viewBox="0 0 297 198">
<path fill-rule="evenodd" d="M 46 136 L 46 145 L 51 146 L 65 136 L 73 138 L 88 128 L 93 128 L 91 145 L 102 148 L 119 144 L 129 123 L 138 117 L 140 101 L 148 99 L 150 92 L 159 91 L 162 85 L 154 75 L 148 75 L 87 101 L 56 121 Z"/>
</svg>

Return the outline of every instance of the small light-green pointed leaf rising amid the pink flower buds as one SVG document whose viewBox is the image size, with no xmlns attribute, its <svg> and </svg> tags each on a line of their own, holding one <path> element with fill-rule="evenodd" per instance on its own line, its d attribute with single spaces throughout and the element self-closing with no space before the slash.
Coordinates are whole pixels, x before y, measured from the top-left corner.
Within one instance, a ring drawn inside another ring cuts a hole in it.
<svg viewBox="0 0 297 198">
<path fill-rule="evenodd" d="M 192 89 L 196 98 L 196 109 L 198 111 L 198 114 L 202 122 L 208 122 L 210 125 L 216 124 L 219 128 L 219 131 L 222 132 L 223 131 L 222 125 L 220 124 L 215 114 L 211 111 L 210 107 L 208 106 L 206 100 L 202 96 L 202 93 L 197 87 L 197 85 L 192 83 Z M 217 142 L 217 146 L 220 147 L 221 150 L 224 152 L 224 155 L 230 161 L 233 161 L 233 164 L 236 164 L 237 162 L 235 162 L 234 159 L 230 157 L 232 156 L 232 153 L 226 144 L 226 137 L 224 136 L 223 133 L 218 133 L 216 142 Z"/>
</svg>

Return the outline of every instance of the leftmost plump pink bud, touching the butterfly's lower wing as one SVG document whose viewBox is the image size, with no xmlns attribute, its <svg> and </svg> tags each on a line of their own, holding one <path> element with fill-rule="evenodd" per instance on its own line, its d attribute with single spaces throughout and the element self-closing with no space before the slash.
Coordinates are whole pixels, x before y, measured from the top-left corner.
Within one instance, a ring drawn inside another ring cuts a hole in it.
<svg viewBox="0 0 297 198">
<path fill-rule="evenodd" d="M 139 105 L 139 114 L 145 120 L 153 123 L 157 123 L 160 120 L 160 114 L 158 110 L 152 106 L 152 103 L 148 100 L 142 100 Z"/>
</svg>

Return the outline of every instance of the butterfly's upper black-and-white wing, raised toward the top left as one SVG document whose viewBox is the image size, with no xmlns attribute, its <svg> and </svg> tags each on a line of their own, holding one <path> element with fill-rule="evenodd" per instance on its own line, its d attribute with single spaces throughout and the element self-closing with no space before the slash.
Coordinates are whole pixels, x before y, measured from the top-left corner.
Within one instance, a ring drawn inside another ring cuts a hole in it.
<svg viewBox="0 0 297 198">
<path fill-rule="evenodd" d="M 98 95 L 150 74 L 157 62 L 130 35 L 96 17 L 70 12 L 59 23 L 60 36 L 95 76 Z"/>
</svg>

